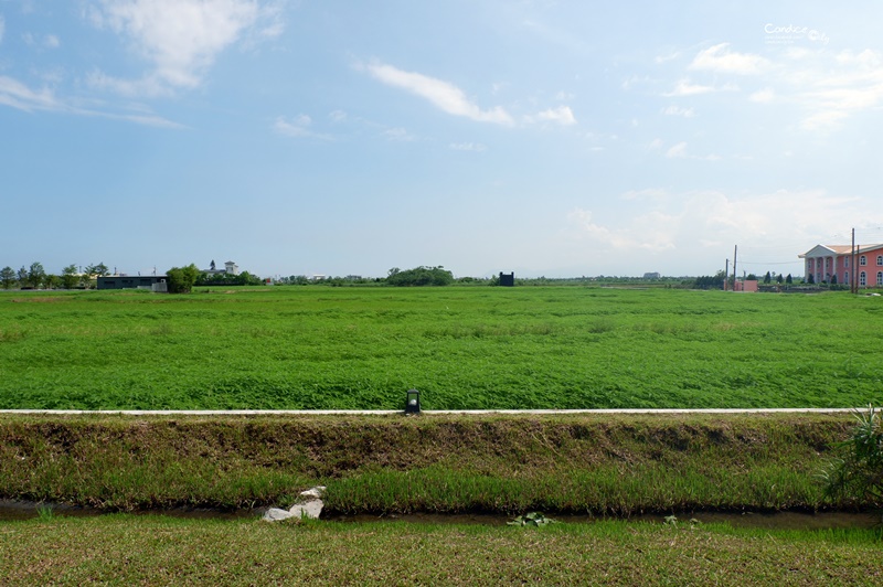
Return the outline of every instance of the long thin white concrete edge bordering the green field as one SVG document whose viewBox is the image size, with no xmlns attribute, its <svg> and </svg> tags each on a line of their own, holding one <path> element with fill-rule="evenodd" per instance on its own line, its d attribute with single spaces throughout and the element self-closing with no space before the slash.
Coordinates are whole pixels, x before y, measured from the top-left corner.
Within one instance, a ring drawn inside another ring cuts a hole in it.
<svg viewBox="0 0 883 587">
<path fill-rule="evenodd" d="M 700 409 L 424 409 L 421 414 L 450 415 L 568 415 L 568 414 L 838 414 L 861 412 L 855 407 L 700 408 Z M 393 416 L 396 409 L 0 409 L 0 414 L 124 415 L 124 416 Z"/>
</svg>

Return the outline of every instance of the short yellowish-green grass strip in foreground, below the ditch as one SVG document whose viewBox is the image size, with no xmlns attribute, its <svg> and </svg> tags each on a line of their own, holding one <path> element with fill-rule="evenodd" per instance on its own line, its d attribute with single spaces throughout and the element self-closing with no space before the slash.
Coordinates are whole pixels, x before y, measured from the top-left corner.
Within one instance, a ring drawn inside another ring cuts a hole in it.
<svg viewBox="0 0 883 587">
<path fill-rule="evenodd" d="M 880 532 L 182 521 L 0 523 L 0 583 L 880 585 Z"/>
</svg>

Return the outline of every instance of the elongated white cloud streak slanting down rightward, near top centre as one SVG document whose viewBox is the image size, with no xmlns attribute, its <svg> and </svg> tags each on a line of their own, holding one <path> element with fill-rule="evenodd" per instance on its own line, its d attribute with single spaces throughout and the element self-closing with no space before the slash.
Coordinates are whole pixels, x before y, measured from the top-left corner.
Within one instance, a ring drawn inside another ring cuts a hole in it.
<svg viewBox="0 0 883 587">
<path fill-rule="evenodd" d="M 466 94 L 448 82 L 414 72 L 405 72 L 383 63 L 371 63 L 364 68 L 375 79 L 398 87 L 429 100 L 435 107 L 454 116 L 464 116 L 479 122 L 511 126 L 512 117 L 503 108 L 482 110 Z"/>
</svg>

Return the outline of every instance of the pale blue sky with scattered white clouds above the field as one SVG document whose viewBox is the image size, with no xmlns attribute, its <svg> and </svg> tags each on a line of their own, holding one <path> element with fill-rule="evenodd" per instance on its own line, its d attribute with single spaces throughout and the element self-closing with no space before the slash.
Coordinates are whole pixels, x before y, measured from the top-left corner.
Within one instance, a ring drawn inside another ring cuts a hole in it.
<svg viewBox="0 0 883 587">
<path fill-rule="evenodd" d="M 769 4 L 0 0 L 0 266 L 802 275 L 883 242 L 883 3 Z"/>
</svg>

